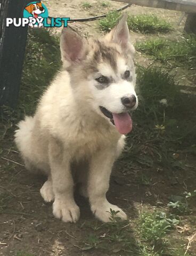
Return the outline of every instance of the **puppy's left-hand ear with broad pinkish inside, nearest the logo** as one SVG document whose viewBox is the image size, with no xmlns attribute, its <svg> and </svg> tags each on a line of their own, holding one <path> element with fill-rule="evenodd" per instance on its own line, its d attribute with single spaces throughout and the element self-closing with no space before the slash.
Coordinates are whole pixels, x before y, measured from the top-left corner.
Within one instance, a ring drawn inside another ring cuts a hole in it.
<svg viewBox="0 0 196 256">
<path fill-rule="evenodd" d="M 65 67 L 85 59 L 86 44 L 86 40 L 71 27 L 62 30 L 60 48 L 61 58 Z"/>
</svg>

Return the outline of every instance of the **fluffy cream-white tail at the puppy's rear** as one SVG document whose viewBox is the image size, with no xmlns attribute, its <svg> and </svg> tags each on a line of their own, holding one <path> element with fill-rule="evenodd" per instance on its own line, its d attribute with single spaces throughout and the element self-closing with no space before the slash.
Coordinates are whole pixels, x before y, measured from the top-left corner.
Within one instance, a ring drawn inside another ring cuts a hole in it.
<svg viewBox="0 0 196 256">
<path fill-rule="evenodd" d="M 25 161 L 27 169 L 30 167 L 31 159 L 31 136 L 32 129 L 35 125 L 35 119 L 31 116 L 26 116 L 25 120 L 18 123 L 19 129 L 15 131 L 15 143 L 22 155 L 23 160 Z"/>
</svg>

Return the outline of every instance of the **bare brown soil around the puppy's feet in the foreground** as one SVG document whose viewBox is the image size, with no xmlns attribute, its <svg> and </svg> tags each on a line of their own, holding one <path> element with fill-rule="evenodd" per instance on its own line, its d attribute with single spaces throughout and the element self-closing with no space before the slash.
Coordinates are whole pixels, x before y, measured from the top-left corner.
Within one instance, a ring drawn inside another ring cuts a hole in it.
<svg viewBox="0 0 196 256">
<path fill-rule="evenodd" d="M 30 175 L 25 167 L 19 165 L 22 163 L 20 157 L 12 150 L 13 147 L 6 148 L 4 157 L 18 164 L 6 159 L 0 162 L 0 255 L 15 256 L 17 251 L 33 253 L 35 256 L 91 255 L 91 252 L 81 250 L 85 237 L 92 231 L 89 226 L 96 226 L 97 222 L 89 210 L 88 202 L 76 194 L 81 211 L 77 224 L 54 219 L 52 205 L 45 204 L 39 194 L 44 178 Z M 149 177 L 149 184 L 141 182 L 142 175 Z M 111 177 L 108 198 L 111 203 L 123 207 L 134 221 L 142 207 L 153 209 L 165 205 L 170 195 L 194 190 L 195 182 L 195 170 L 189 167 L 181 172 L 168 173 L 157 166 L 149 170 L 138 164 L 124 172 L 117 165 Z M 189 228 L 183 230 L 185 226 Z M 181 237 L 182 234 L 194 234 L 196 226 L 193 219 L 187 218 L 184 227 L 179 227 L 180 231 Z M 118 254 L 100 250 L 93 255 Z"/>
</svg>

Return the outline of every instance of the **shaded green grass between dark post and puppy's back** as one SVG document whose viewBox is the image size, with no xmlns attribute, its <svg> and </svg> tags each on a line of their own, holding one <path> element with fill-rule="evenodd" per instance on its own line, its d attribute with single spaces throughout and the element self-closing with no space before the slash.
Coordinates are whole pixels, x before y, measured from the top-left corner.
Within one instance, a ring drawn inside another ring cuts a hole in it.
<svg viewBox="0 0 196 256">
<path fill-rule="evenodd" d="M 0 107 L 0 143 L 19 119 L 35 112 L 40 95 L 60 69 L 59 39 L 46 29 L 29 30 L 23 67 L 18 108 Z"/>
</svg>

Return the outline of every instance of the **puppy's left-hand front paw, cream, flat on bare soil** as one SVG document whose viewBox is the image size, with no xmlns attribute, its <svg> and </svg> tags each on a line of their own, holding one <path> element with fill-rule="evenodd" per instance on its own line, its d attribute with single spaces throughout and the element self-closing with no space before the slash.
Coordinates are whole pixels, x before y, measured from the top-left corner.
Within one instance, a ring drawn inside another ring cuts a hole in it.
<svg viewBox="0 0 196 256">
<path fill-rule="evenodd" d="M 62 219 L 64 222 L 78 221 L 80 210 L 76 203 L 66 203 L 62 200 L 55 199 L 53 203 L 53 214 L 56 218 Z"/>
</svg>

